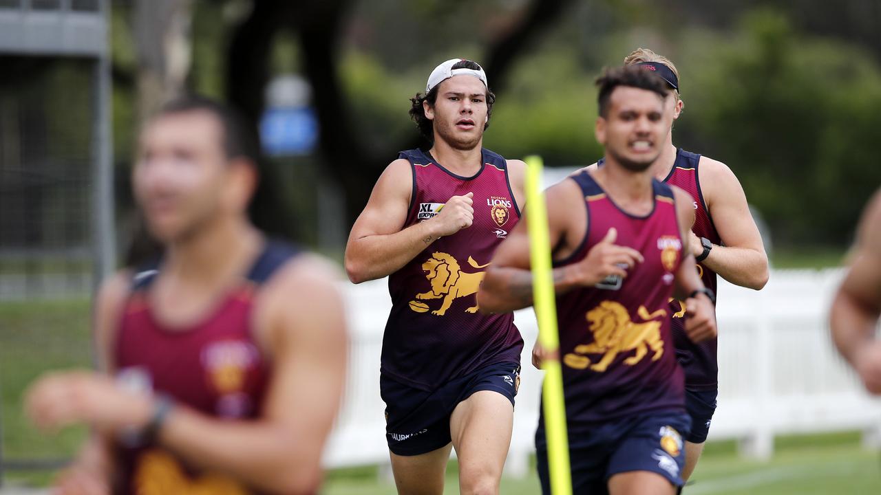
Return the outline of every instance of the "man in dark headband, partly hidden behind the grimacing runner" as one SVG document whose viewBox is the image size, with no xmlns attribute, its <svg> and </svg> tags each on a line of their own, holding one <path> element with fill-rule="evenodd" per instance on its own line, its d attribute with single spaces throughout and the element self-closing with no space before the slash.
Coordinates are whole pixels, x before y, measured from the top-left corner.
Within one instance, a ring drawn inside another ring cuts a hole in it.
<svg viewBox="0 0 881 495">
<path fill-rule="evenodd" d="M 679 76 L 670 60 L 648 48 L 639 48 L 624 59 L 625 65 L 636 65 L 663 78 L 667 86 L 664 100 L 667 134 L 660 157 L 652 166 L 658 181 L 685 189 L 692 196 L 694 225 L 687 233 L 686 246 L 697 261 L 704 285 L 716 291 L 716 274 L 732 284 L 760 290 L 768 280 L 768 259 L 759 228 L 746 203 L 744 188 L 720 161 L 677 148 L 673 144 L 673 123 L 682 114 L 685 102 L 679 97 Z M 603 159 L 588 166 L 596 170 Z M 577 173 L 576 173 L 577 174 Z M 682 301 L 670 301 L 673 314 L 673 340 L 679 364 L 685 369 L 685 407 L 692 417 L 692 431 L 685 442 L 686 481 L 692 476 L 707 440 L 710 421 L 719 395 L 717 340 L 700 344 L 685 335 Z M 533 357 L 540 362 L 540 349 Z"/>
</svg>

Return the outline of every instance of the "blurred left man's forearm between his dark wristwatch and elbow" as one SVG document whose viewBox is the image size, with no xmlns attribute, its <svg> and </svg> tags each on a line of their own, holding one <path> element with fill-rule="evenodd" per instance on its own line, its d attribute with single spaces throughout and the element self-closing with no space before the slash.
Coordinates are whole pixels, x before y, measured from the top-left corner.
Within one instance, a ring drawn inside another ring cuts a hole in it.
<svg viewBox="0 0 881 495">
<path fill-rule="evenodd" d="M 313 493 L 321 481 L 314 440 L 269 421 L 221 421 L 176 407 L 159 443 L 201 469 L 225 472 L 271 493 Z"/>
</svg>

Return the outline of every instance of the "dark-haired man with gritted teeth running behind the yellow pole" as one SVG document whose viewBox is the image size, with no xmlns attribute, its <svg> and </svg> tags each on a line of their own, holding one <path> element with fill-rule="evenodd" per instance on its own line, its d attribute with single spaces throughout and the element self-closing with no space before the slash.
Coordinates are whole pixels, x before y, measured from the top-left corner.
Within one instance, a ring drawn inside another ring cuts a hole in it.
<svg viewBox="0 0 881 495">
<path fill-rule="evenodd" d="M 654 178 L 670 120 L 663 81 L 628 67 L 597 84 L 605 166 L 546 195 L 573 491 L 672 494 L 690 420 L 669 300 L 685 300 L 685 331 L 700 342 L 716 335 L 714 296 L 686 244 L 691 196 Z M 525 225 L 493 256 L 478 302 L 492 312 L 532 304 Z M 544 417 L 536 447 L 550 493 Z"/>
</svg>

